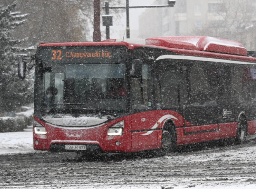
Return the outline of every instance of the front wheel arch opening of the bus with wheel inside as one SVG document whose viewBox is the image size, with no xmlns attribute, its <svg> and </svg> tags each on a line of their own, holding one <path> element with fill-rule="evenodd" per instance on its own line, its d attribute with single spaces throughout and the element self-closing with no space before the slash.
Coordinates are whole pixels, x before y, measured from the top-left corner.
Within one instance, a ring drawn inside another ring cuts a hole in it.
<svg viewBox="0 0 256 189">
<path fill-rule="evenodd" d="M 161 150 L 163 152 L 173 152 L 177 144 L 177 134 L 175 124 L 172 119 L 164 122 L 162 128 Z"/>
</svg>

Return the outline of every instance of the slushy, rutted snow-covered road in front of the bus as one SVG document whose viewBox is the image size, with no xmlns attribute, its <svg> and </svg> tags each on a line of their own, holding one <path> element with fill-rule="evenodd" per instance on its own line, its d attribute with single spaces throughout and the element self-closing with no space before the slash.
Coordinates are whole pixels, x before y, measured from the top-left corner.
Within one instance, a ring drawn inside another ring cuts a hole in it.
<svg viewBox="0 0 256 189">
<path fill-rule="evenodd" d="M 256 188 L 255 139 L 199 148 L 186 146 L 164 157 L 102 155 L 93 161 L 74 153 L 0 154 L 0 188 Z"/>
</svg>

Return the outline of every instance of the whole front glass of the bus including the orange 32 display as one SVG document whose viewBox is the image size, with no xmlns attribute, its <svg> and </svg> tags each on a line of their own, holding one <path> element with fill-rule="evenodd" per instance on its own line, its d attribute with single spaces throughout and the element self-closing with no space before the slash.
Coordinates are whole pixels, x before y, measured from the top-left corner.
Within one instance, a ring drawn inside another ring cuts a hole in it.
<svg viewBox="0 0 256 189">
<path fill-rule="evenodd" d="M 41 106 L 37 108 L 40 112 L 53 113 L 70 109 L 126 110 L 125 61 L 121 58 L 120 49 L 52 49 L 43 49 L 38 54 L 41 64 L 37 63 L 38 86 L 35 94 L 43 103 L 35 106 Z M 96 57 L 106 51 L 109 57 Z M 57 60 L 60 52 L 63 56 Z M 86 53 L 95 53 L 95 58 L 82 57 Z M 47 67 L 47 71 L 42 71 L 42 67 Z"/>
</svg>

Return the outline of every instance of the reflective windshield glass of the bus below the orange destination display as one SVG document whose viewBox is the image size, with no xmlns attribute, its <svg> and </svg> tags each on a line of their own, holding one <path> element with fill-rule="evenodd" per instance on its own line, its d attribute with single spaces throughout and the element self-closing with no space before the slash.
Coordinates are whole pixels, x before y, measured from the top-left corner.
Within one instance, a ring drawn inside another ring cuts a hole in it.
<svg viewBox="0 0 256 189">
<path fill-rule="evenodd" d="M 47 109 L 77 108 L 124 110 L 124 65 L 52 65 L 44 74 Z M 62 106 L 56 106 L 62 105 Z"/>
</svg>

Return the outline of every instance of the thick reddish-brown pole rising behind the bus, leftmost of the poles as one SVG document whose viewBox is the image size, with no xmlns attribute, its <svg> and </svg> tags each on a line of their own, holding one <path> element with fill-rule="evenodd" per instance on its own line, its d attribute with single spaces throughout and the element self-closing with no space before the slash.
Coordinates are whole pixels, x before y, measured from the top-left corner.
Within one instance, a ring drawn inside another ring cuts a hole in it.
<svg viewBox="0 0 256 189">
<path fill-rule="evenodd" d="M 101 41 L 100 33 L 100 0 L 93 1 L 93 41 Z"/>
</svg>

